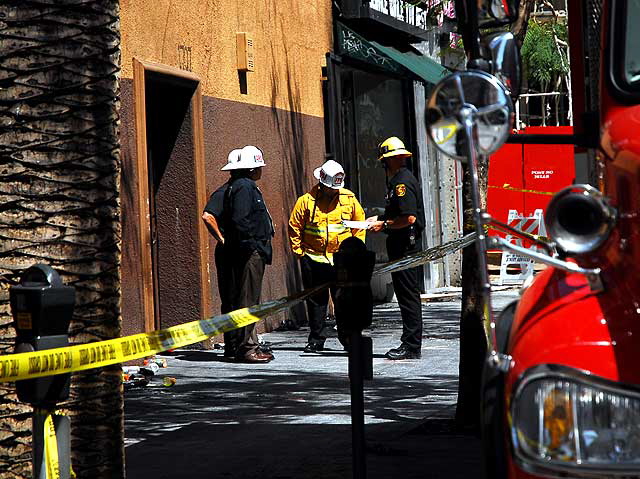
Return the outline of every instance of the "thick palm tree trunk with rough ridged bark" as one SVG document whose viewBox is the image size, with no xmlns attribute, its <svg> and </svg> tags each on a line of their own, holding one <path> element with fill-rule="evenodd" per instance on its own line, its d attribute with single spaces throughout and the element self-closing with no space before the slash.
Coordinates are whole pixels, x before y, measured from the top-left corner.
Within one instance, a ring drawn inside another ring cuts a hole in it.
<svg viewBox="0 0 640 479">
<path fill-rule="evenodd" d="M 73 343 L 120 334 L 118 0 L 4 0 L 0 29 L 0 338 L 7 288 L 47 263 L 76 289 Z M 31 409 L 0 384 L 0 476 L 31 477 Z M 79 478 L 123 477 L 119 365 L 72 376 Z"/>
</svg>

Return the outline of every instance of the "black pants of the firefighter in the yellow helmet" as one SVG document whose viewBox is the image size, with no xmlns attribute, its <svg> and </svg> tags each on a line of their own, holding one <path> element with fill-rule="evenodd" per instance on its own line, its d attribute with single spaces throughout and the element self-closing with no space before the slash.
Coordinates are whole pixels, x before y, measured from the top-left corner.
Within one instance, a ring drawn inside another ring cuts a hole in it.
<svg viewBox="0 0 640 479">
<path fill-rule="evenodd" d="M 419 245 L 409 243 L 408 235 L 389 235 L 387 237 L 387 254 L 390 261 L 417 253 L 419 250 Z M 418 268 L 391 273 L 391 279 L 402 316 L 401 341 L 411 349 L 420 350 L 422 347 L 422 302 L 418 286 Z"/>
</svg>

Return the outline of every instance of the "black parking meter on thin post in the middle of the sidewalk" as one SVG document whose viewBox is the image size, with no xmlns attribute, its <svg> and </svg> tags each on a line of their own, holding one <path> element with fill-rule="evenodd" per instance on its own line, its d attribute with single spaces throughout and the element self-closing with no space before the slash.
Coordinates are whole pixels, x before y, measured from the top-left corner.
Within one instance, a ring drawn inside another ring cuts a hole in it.
<svg viewBox="0 0 640 479">
<path fill-rule="evenodd" d="M 349 380 L 351 387 L 351 438 L 353 477 L 365 479 L 366 441 L 364 435 L 364 379 L 373 377 L 373 343 L 363 337 L 362 330 L 371 325 L 373 296 L 371 276 L 375 253 L 364 243 L 348 238 L 334 254 L 337 275 L 335 315 L 338 329 L 349 333 Z"/>
</svg>

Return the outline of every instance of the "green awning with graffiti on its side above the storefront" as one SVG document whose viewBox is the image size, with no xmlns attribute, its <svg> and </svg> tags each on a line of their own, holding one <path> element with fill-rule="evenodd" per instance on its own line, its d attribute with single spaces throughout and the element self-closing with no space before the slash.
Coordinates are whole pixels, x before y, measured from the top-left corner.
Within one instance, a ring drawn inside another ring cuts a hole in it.
<svg viewBox="0 0 640 479">
<path fill-rule="evenodd" d="M 371 41 L 338 22 L 338 53 L 395 73 L 409 72 L 428 83 L 438 83 L 449 70 L 417 50 L 402 52 Z M 410 47 L 409 47 L 410 48 Z"/>
</svg>

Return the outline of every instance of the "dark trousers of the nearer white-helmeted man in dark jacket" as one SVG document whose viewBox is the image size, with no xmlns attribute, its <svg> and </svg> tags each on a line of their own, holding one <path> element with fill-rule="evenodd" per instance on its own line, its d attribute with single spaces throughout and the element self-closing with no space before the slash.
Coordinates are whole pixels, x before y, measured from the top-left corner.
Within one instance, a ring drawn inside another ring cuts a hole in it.
<svg viewBox="0 0 640 479">
<path fill-rule="evenodd" d="M 248 257 L 234 253 L 231 258 L 231 309 L 236 310 L 258 304 L 262 293 L 264 259 L 257 251 Z M 258 348 L 256 323 L 233 331 L 232 336 L 237 341 L 235 355 L 238 358 L 243 358 Z M 225 354 L 227 354 L 226 351 Z"/>
</svg>

